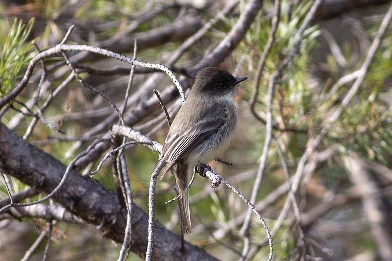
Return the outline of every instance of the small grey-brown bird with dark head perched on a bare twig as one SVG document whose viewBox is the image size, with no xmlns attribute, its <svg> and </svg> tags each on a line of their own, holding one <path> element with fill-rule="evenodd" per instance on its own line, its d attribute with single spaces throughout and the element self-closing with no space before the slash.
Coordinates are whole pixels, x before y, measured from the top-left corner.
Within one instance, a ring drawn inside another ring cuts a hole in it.
<svg viewBox="0 0 392 261">
<path fill-rule="evenodd" d="M 188 173 L 193 173 L 200 163 L 208 163 L 220 155 L 231 142 L 237 125 L 235 86 L 246 79 L 235 78 L 215 67 L 198 71 L 192 90 L 163 144 L 160 159 L 165 157 L 168 164 L 161 179 L 169 170 L 174 173 L 183 234 L 192 233 Z"/>
</svg>

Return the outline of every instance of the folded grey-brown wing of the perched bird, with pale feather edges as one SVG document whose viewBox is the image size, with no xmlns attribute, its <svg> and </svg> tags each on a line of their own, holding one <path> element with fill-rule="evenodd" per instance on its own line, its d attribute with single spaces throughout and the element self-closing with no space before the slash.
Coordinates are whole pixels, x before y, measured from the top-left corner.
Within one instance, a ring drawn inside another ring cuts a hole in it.
<svg viewBox="0 0 392 261">
<path fill-rule="evenodd" d="M 207 115 L 205 119 L 190 126 L 182 133 L 169 132 L 163 144 L 162 155 L 165 156 L 167 172 L 176 161 L 186 157 L 194 148 L 217 133 L 227 119 L 227 108 L 220 107 Z"/>
</svg>

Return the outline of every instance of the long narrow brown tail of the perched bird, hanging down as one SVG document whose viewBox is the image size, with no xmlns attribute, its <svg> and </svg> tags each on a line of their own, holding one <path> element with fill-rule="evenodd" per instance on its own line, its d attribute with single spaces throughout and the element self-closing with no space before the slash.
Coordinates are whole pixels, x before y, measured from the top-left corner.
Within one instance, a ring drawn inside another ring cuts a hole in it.
<svg viewBox="0 0 392 261">
<path fill-rule="evenodd" d="M 188 165 L 183 161 L 177 162 L 172 171 L 174 172 L 175 182 L 177 183 L 178 193 L 180 195 L 180 217 L 182 234 L 191 234 L 191 216 L 189 211 L 189 188 L 188 188 Z"/>
</svg>

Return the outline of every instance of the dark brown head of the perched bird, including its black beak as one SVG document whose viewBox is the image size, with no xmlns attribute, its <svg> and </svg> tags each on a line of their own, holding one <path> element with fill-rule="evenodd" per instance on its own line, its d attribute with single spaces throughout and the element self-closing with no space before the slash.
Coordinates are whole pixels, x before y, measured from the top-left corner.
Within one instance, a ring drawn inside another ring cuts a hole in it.
<svg viewBox="0 0 392 261">
<path fill-rule="evenodd" d="M 208 93 L 225 93 L 232 91 L 236 84 L 247 77 L 236 78 L 230 72 L 217 67 L 205 67 L 196 73 L 193 90 Z"/>
</svg>

